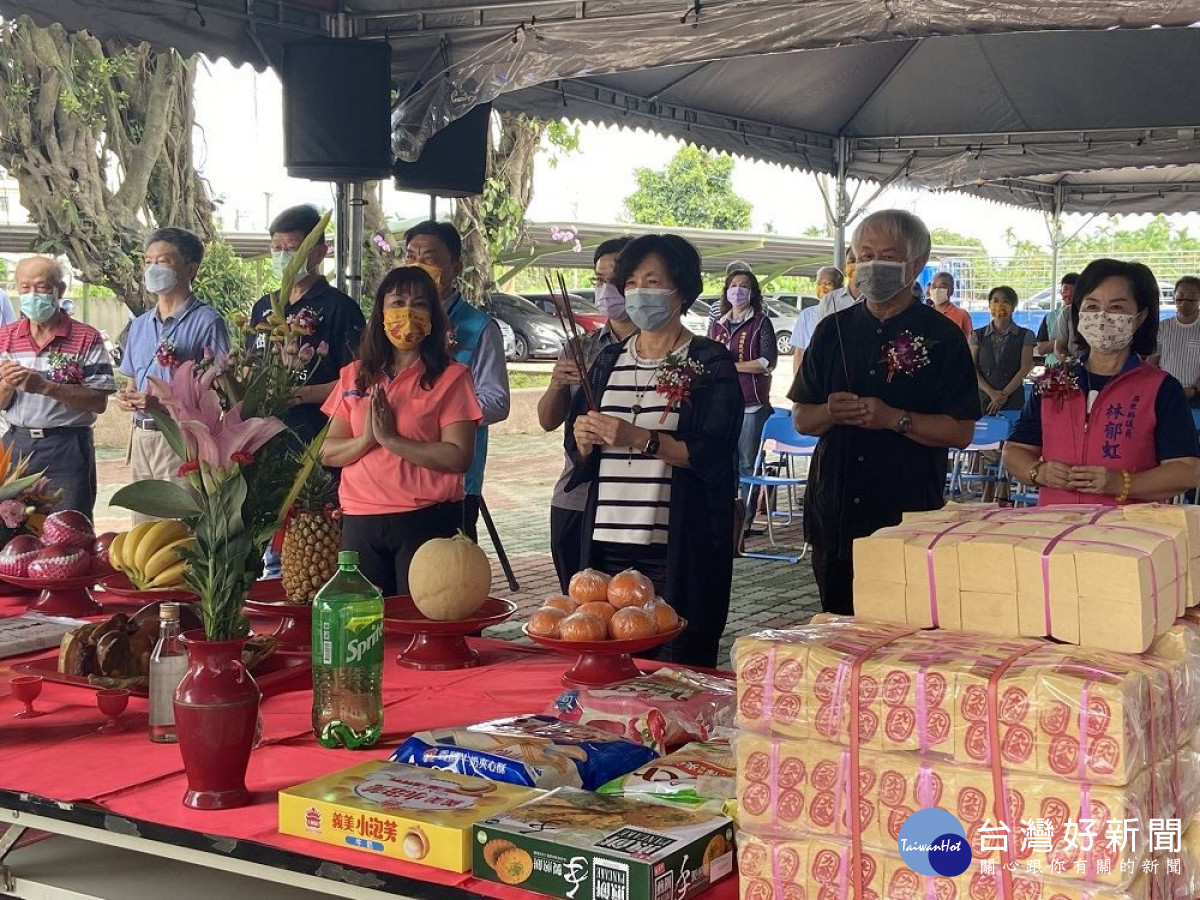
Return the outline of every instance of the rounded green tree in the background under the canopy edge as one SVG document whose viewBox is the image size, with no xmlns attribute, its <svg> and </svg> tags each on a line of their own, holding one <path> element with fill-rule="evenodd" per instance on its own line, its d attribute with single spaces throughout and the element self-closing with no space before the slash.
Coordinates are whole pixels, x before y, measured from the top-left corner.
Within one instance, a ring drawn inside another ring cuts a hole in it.
<svg viewBox="0 0 1200 900">
<path fill-rule="evenodd" d="M 664 169 L 634 170 L 637 190 L 625 215 L 638 224 L 674 228 L 750 228 L 749 200 L 733 192 L 733 157 L 684 146 Z"/>
</svg>

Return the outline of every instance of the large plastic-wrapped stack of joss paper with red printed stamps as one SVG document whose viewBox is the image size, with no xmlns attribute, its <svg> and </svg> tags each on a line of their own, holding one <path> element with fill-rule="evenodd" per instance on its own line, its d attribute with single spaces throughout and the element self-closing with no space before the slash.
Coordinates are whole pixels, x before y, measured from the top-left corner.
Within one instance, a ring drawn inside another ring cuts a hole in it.
<svg viewBox="0 0 1200 900">
<path fill-rule="evenodd" d="M 739 638 L 733 667 L 743 900 L 1200 887 L 1200 614 L 1140 655 L 818 616 Z M 958 877 L 900 857 L 929 806 L 971 845 Z"/>
</svg>

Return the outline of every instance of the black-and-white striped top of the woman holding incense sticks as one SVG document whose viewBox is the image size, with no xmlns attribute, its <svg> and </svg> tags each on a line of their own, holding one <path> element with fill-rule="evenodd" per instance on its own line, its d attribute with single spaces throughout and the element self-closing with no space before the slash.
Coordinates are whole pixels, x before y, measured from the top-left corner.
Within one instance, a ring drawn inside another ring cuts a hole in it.
<svg viewBox="0 0 1200 900">
<path fill-rule="evenodd" d="M 679 413 L 655 390 L 662 360 L 637 356 L 630 341 L 613 366 L 600 412 L 642 428 L 674 433 Z M 686 354 L 686 344 L 676 350 Z M 636 412 L 635 412 L 636 410 Z M 642 448 L 606 446 L 600 456 L 593 540 L 613 544 L 666 544 L 671 520 L 671 466 Z"/>
</svg>

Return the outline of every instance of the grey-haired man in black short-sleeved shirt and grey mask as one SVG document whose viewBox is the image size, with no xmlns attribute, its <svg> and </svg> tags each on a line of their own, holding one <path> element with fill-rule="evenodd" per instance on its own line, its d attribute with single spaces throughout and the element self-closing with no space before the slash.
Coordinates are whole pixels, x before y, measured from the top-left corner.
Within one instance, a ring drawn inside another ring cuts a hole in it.
<svg viewBox="0 0 1200 900">
<path fill-rule="evenodd" d="M 883 210 L 854 232 L 866 302 L 817 325 L 788 397 L 798 431 L 820 438 L 804 496 L 804 536 L 827 612 L 854 608 L 851 550 L 910 510 L 938 509 L 947 448 L 979 418 L 971 352 L 947 317 L 917 302 L 929 229 Z"/>
</svg>

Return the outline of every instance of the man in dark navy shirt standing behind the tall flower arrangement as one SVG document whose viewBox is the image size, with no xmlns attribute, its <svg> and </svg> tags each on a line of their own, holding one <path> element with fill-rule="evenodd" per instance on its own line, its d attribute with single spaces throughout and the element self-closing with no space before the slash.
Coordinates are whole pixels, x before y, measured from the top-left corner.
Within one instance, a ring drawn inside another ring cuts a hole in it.
<svg viewBox="0 0 1200 900">
<path fill-rule="evenodd" d="M 284 266 L 319 221 L 320 212 L 307 204 L 292 206 L 276 216 L 270 227 L 271 262 L 276 275 L 283 274 Z M 325 427 L 326 418 L 320 412 L 320 404 L 337 384 L 337 374 L 342 367 L 358 355 L 359 338 L 366 325 L 359 305 L 320 274 L 320 263 L 328 252 L 329 245 L 324 239 L 312 248 L 306 268 L 296 278 L 283 310 L 288 320 L 306 326 L 307 334 L 300 337 L 301 346 L 313 348 L 308 380 L 296 389 L 295 406 L 283 418 L 283 424 L 306 444 Z M 270 312 L 271 298 L 266 295 L 254 304 L 250 324 L 253 326 L 264 322 Z M 251 337 L 250 344 L 251 349 L 263 349 L 266 336 Z M 324 355 L 318 352 L 322 344 L 328 348 Z"/>
</svg>

